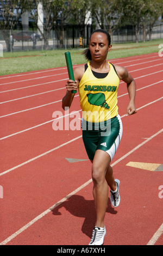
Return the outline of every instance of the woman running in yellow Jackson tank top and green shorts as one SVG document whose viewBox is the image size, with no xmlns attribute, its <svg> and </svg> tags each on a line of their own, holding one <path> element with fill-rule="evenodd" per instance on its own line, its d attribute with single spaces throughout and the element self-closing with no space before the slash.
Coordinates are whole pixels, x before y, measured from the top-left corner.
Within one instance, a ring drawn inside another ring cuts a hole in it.
<svg viewBox="0 0 163 256">
<path fill-rule="evenodd" d="M 70 107 L 79 90 L 83 120 L 83 142 L 92 162 L 93 197 L 95 200 L 96 223 L 89 245 L 103 245 L 106 229 L 105 211 L 110 200 L 114 207 L 120 204 L 120 181 L 114 179 L 110 162 L 122 137 L 122 122 L 118 115 L 117 89 L 120 80 L 127 83 L 129 105 L 127 115 L 136 113 L 136 84 L 127 69 L 106 61 L 111 50 L 110 34 L 103 29 L 93 31 L 89 49 L 84 51 L 89 62 L 74 69 L 75 81 L 66 83 L 66 95 L 62 108 Z"/>
</svg>

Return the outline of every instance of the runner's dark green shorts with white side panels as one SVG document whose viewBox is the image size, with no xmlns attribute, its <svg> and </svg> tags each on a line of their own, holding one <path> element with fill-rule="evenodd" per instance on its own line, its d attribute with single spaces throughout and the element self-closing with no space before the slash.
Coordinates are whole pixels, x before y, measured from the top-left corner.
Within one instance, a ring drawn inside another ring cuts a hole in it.
<svg viewBox="0 0 163 256">
<path fill-rule="evenodd" d="M 123 132 L 120 115 L 109 120 L 109 123 L 97 127 L 88 128 L 88 122 L 82 121 L 83 142 L 86 153 L 90 160 L 93 160 L 97 149 L 101 149 L 113 159 L 118 145 L 120 144 Z"/>
</svg>

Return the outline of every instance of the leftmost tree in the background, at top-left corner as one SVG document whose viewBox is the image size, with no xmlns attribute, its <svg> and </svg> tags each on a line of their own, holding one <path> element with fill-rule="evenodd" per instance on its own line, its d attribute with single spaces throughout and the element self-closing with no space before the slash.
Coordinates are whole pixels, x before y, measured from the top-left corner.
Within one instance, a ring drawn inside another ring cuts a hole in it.
<svg viewBox="0 0 163 256">
<path fill-rule="evenodd" d="M 21 15 L 26 11 L 28 6 L 27 0 L 5 0 L 1 1 L 0 15 L 2 21 L 0 22 L 0 29 L 4 36 L 7 45 L 7 51 L 11 50 L 10 31 L 14 29 L 20 20 Z"/>
</svg>

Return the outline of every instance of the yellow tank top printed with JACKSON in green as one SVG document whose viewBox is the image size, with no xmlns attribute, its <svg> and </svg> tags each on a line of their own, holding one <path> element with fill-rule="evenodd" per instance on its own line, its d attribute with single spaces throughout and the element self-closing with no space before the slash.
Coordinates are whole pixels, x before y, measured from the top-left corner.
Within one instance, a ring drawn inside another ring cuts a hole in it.
<svg viewBox="0 0 163 256">
<path fill-rule="evenodd" d="M 83 118 L 91 123 L 99 123 L 114 118 L 118 114 L 117 90 L 120 78 L 116 74 L 114 66 L 110 65 L 110 71 L 105 78 L 97 78 L 93 75 L 90 62 L 79 83 L 80 106 Z"/>
</svg>

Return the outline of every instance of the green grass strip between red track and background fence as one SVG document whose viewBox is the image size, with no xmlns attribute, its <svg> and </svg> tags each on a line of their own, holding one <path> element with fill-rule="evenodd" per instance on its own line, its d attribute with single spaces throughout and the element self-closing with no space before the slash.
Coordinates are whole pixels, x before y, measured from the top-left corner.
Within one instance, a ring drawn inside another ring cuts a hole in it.
<svg viewBox="0 0 163 256">
<path fill-rule="evenodd" d="M 108 53 L 109 59 L 116 59 L 152 52 L 159 52 L 159 44 L 162 39 L 147 42 L 134 42 L 113 44 L 112 50 Z M 67 49 L 71 52 L 72 64 L 86 63 L 82 52 L 84 49 Z M 66 66 L 65 50 L 49 51 L 23 51 L 23 52 L 4 52 L 0 57 L 1 70 L 0 75 L 17 74 L 21 72 L 51 69 L 60 66 Z M 27 57 L 28 56 L 28 57 Z"/>
</svg>

